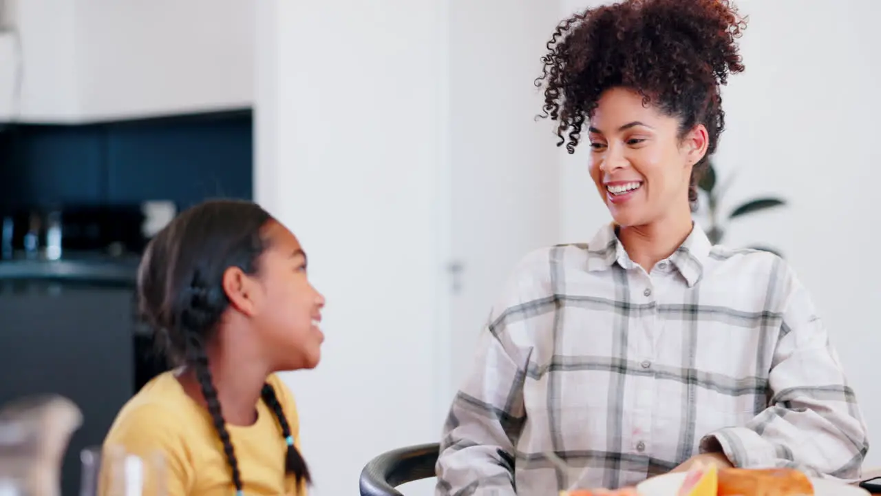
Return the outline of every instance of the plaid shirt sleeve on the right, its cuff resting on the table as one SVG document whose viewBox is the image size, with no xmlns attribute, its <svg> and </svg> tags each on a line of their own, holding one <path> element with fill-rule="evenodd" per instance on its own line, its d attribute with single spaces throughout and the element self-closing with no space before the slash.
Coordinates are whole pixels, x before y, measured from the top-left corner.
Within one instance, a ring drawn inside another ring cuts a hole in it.
<svg viewBox="0 0 881 496">
<path fill-rule="evenodd" d="M 790 467 L 855 480 L 869 450 L 866 425 L 807 290 L 791 276 L 769 373 L 771 400 L 747 425 L 701 440 L 737 467 Z"/>
</svg>

